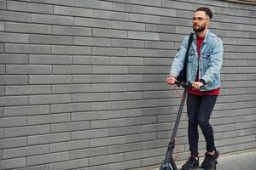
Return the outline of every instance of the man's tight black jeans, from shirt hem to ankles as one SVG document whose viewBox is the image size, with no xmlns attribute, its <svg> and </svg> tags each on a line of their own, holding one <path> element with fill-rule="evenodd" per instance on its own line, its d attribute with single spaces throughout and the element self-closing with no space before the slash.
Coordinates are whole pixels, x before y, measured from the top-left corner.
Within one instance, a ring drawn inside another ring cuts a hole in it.
<svg viewBox="0 0 256 170">
<path fill-rule="evenodd" d="M 189 150 L 198 155 L 198 125 L 207 142 L 207 151 L 216 150 L 210 116 L 218 95 L 188 94 L 187 107 L 189 117 Z"/>
</svg>

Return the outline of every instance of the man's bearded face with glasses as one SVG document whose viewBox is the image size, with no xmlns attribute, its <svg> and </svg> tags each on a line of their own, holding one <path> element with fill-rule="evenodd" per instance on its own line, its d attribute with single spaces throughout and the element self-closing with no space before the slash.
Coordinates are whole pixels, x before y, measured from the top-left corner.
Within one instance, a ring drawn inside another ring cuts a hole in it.
<svg viewBox="0 0 256 170">
<path fill-rule="evenodd" d="M 209 16 L 204 11 L 197 11 L 193 17 L 193 30 L 195 32 L 204 31 L 209 26 Z"/>
</svg>

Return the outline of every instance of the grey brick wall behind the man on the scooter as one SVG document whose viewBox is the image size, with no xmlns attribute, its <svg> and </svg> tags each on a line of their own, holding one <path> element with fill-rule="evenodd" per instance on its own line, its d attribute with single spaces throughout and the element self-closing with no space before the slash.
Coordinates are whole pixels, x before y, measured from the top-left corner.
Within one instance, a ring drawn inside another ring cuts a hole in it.
<svg viewBox="0 0 256 170">
<path fill-rule="evenodd" d="M 212 9 L 211 30 L 224 41 L 222 90 L 212 113 L 218 150 L 255 149 L 255 5 L 0 0 L 0 169 L 160 163 L 180 100 L 165 79 L 201 5 Z M 184 113 L 178 160 L 189 153 L 186 120 Z"/>
</svg>

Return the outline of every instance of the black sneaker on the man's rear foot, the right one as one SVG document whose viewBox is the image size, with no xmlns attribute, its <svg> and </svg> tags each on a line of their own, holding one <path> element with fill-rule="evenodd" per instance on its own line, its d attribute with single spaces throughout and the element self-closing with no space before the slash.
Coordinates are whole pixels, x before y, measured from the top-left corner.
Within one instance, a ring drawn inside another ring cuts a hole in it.
<svg viewBox="0 0 256 170">
<path fill-rule="evenodd" d="M 217 159 L 219 156 L 218 150 L 215 151 L 213 155 L 206 153 L 204 161 L 201 163 L 201 168 L 208 170 L 212 169 L 217 164 Z"/>
</svg>

